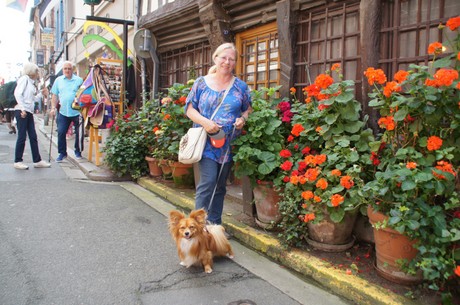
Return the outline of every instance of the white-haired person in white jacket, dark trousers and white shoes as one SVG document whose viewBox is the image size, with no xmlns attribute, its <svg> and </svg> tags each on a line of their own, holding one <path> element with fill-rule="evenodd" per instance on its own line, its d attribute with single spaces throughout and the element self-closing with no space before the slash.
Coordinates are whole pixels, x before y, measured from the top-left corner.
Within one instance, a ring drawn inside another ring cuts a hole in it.
<svg viewBox="0 0 460 305">
<path fill-rule="evenodd" d="M 32 63 L 24 64 L 23 75 L 18 79 L 18 84 L 14 90 L 14 97 L 18 104 L 14 107 L 14 117 L 16 118 L 18 138 L 14 153 L 14 167 L 17 169 L 29 169 L 23 163 L 24 148 L 26 139 L 29 136 L 30 149 L 34 167 L 51 167 L 51 164 L 42 160 L 38 151 L 37 132 L 34 123 L 35 102 L 48 95 L 48 89 L 38 90 L 35 81 L 39 77 L 38 66 Z"/>
</svg>

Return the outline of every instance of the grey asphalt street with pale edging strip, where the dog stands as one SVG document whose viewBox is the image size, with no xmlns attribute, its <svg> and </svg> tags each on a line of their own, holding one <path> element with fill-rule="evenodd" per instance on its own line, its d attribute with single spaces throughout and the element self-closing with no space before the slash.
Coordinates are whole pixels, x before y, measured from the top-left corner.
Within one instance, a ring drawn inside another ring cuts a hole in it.
<svg viewBox="0 0 460 305">
<path fill-rule="evenodd" d="M 2 305 L 349 304 L 236 241 L 235 260 L 216 259 L 212 274 L 186 269 L 167 230 L 173 205 L 134 183 L 89 181 L 70 162 L 16 170 L 15 139 L 0 125 Z"/>
</svg>

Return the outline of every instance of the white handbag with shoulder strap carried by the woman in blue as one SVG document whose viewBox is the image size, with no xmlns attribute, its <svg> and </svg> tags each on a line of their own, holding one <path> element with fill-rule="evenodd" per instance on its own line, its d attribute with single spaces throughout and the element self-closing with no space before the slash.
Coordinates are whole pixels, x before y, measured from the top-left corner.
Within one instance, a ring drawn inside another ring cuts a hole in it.
<svg viewBox="0 0 460 305">
<path fill-rule="evenodd" d="M 235 78 L 233 77 L 230 85 L 225 90 L 219 105 L 217 106 L 216 110 L 214 110 L 211 116 L 211 120 L 222 105 L 222 102 L 227 96 L 228 91 L 230 91 L 230 88 L 233 86 L 234 81 Z M 204 127 L 200 126 L 190 128 L 187 133 L 180 139 L 178 154 L 179 162 L 184 164 L 192 164 L 200 161 L 201 156 L 203 155 L 204 147 L 206 145 L 206 138 L 207 133 L 206 130 L 204 130 Z"/>
</svg>

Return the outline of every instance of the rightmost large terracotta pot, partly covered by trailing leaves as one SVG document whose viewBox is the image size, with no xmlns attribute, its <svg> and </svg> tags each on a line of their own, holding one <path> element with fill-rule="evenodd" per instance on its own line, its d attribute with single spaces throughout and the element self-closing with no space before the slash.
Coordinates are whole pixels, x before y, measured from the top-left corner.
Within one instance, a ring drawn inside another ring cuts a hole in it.
<svg viewBox="0 0 460 305">
<path fill-rule="evenodd" d="M 400 259 L 412 260 L 417 255 L 417 249 L 413 247 L 416 241 L 390 228 L 375 228 L 376 223 L 382 223 L 388 216 L 374 211 L 370 206 L 367 208 L 367 216 L 374 227 L 375 240 L 375 268 L 377 273 L 398 284 L 414 285 L 422 281 L 422 274 L 416 276 L 404 273 L 397 261 Z"/>
</svg>

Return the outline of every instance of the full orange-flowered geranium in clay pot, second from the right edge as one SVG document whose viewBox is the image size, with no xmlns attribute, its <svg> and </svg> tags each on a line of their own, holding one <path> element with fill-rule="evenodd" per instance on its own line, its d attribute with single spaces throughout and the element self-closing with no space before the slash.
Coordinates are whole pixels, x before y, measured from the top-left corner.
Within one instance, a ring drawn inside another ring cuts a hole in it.
<svg viewBox="0 0 460 305">
<path fill-rule="evenodd" d="M 334 64 L 320 74 L 303 89 L 303 102 L 291 88 L 292 130 L 282 151 L 282 235 L 289 244 L 307 240 L 324 251 L 353 245 L 354 222 L 365 202 L 361 188 L 370 165 L 368 142 L 373 139 L 360 119 L 354 83 L 343 80 L 340 72 Z"/>
</svg>

